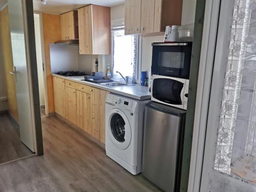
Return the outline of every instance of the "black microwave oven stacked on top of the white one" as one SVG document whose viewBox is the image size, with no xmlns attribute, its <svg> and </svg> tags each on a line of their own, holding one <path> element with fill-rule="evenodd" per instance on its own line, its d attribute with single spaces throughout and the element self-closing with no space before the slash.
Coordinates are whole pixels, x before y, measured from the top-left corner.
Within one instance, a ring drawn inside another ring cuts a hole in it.
<svg viewBox="0 0 256 192">
<path fill-rule="evenodd" d="M 155 42 L 152 46 L 152 75 L 189 79 L 192 42 Z"/>
</svg>

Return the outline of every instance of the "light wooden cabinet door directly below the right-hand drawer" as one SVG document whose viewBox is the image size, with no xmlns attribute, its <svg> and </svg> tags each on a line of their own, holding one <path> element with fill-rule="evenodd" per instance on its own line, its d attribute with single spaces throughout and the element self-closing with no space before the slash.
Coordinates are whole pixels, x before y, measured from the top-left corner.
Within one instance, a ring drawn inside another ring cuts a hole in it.
<svg viewBox="0 0 256 192">
<path fill-rule="evenodd" d="M 76 103 L 77 126 L 91 134 L 91 95 L 76 91 Z"/>
</svg>

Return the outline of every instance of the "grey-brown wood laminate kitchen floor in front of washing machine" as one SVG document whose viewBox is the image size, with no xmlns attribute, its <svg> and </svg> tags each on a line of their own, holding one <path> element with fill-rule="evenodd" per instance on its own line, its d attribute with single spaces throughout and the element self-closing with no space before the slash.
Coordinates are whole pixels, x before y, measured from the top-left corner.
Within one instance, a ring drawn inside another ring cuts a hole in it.
<svg viewBox="0 0 256 192">
<path fill-rule="evenodd" d="M 57 117 L 42 118 L 44 156 L 0 166 L 0 191 L 159 191 Z"/>
</svg>

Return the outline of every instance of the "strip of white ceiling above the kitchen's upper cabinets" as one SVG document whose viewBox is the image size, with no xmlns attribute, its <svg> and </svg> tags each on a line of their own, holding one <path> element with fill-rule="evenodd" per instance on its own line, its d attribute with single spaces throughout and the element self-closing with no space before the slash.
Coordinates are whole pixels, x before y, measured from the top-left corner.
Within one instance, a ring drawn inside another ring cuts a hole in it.
<svg viewBox="0 0 256 192">
<path fill-rule="evenodd" d="M 3 0 L 0 0 L 3 1 Z M 66 13 L 76 10 L 88 4 L 113 7 L 123 4 L 124 0 L 48 0 L 46 5 L 42 5 L 40 0 L 33 0 L 34 10 L 51 14 Z"/>
</svg>

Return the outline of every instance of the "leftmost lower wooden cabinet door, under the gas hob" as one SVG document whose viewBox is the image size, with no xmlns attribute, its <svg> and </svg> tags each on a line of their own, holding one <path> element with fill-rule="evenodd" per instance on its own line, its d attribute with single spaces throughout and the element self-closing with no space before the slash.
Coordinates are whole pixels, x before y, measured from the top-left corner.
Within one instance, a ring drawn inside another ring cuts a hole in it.
<svg viewBox="0 0 256 192">
<path fill-rule="evenodd" d="M 54 89 L 54 103 L 55 103 L 55 112 L 59 115 L 65 117 L 65 80 L 53 77 L 53 89 Z"/>
</svg>

